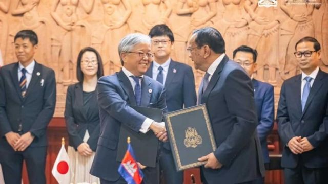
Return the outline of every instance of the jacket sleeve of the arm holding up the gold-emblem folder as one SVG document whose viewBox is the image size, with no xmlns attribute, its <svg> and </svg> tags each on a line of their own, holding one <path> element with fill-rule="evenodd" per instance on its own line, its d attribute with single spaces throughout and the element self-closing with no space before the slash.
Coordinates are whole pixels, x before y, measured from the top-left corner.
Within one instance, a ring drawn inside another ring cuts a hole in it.
<svg viewBox="0 0 328 184">
<path fill-rule="evenodd" d="M 251 79 L 241 70 L 232 71 L 223 87 L 224 97 L 235 122 L 230 135 L 214 155 L 225 166 L 231 164 L 240 150 L 253 140 L 257 126 L 254 91 Z"/>
</svg>

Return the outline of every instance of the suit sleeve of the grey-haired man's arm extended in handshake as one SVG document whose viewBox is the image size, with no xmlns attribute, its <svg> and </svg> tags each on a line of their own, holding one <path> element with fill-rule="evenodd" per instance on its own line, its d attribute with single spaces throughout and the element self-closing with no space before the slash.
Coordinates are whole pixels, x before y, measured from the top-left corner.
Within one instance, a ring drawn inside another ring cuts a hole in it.
<svg viewBox="0 0 328 184">
<path fill-rule="evenodd" d="M 116 85 L 115 82 L 117 82 Z M 118 90 L 121 90 L 119 88 L 118 81 L 114 81 L 110 77 L 101 77 L 97 84 L 98 105 L 119 122 L 124 123 L 135 132 L 139 132 L 146 117 L 135 111 L 125 99 L 122 99 L 118 93 Z M 121 93 L 124 92 L 121 91 Z"/>
</svg>

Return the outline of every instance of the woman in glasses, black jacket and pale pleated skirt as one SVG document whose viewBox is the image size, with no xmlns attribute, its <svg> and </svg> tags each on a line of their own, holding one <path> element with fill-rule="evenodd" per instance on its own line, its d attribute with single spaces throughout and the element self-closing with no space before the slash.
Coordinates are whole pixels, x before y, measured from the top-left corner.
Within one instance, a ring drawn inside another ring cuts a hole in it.
<svg viewBox="0 0 328 184">
<path fill-rule="evenodd" d="M 76 72 L 79 82 L 68 87 L 65 107 L 71 183 L 99 183 L 89 174 L 100 134 L 96 86 L 104 69 L 99 53 L 91 47 L 82 49 Z"/>
</svg>

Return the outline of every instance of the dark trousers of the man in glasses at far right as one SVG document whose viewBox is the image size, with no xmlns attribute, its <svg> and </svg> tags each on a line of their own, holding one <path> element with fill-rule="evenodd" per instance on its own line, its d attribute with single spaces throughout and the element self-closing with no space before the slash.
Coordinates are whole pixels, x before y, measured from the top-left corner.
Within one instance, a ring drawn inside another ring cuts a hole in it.
<svg viewBox="0 0 328 184">
<path fill-rule="evenodd" d="M 300 159 L 296 168 L 284 168 L 285 184 L 328 183 L 326 168 L 307 168 Z"/>
</svg>

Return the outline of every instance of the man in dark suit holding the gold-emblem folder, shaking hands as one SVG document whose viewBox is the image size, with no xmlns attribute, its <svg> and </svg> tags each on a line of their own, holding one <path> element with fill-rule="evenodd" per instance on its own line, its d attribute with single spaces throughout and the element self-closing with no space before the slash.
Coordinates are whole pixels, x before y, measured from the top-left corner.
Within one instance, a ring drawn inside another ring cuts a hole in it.
<svg viewBox="0 0 328 184">
<path fill-rule="evenodd" d="M 194 31 L 187 51 L 195 68 L 206 72 L 198 103 L 206 103 L 217 149 L 200 157 L 203 183 L 254 183 L 264 176 L 257 137 L 253 84 L 243 68 L 224 54 L 214 28 Z"/>
</svg>

